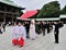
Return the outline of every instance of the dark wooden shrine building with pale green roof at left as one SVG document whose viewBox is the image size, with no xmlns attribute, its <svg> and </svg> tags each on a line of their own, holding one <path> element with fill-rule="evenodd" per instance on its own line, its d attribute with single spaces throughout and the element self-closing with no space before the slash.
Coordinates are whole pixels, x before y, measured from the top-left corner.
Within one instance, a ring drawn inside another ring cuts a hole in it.
<svg viewBox="0 0 66 50">
<path fill-rule="evenodd" d="M 10 0 L 0 0 L 0 22 L 15 22 L 21 10 L 24 8 L 18 7 Z"/>
</svg>

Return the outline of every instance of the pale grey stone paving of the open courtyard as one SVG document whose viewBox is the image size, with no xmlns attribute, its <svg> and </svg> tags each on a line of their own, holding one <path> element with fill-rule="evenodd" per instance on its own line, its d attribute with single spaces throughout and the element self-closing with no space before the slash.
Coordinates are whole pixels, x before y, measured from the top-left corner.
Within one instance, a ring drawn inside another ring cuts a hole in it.
<svg viewBox="0 0 66 50">
<path fill-rule="evenodd" d="M 59 30 L 59 43 L 54 43 L 54 33 L 51 32 L 45 36 L 37 35 L 35 40 L 26 39 L 25 46 L 19 48 L 11 43 L 12 26 L 7 27 L 7 32 L 0 34 L 0 50 L 66 50 L 66 25 Z"/>
</svg>

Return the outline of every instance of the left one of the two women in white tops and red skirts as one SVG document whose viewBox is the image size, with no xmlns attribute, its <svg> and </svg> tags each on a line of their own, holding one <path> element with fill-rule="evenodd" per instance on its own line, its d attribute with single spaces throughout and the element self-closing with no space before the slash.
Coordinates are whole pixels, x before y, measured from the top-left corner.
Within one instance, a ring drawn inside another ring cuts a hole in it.
<svg viewBox="0 0 66 50">
<path fill-rule="evenodd" d="M 18 25 L 16 25 L 16 23 L 13 24 L 12 43 L 14 46 L 18 43 Z"/>
</svg>

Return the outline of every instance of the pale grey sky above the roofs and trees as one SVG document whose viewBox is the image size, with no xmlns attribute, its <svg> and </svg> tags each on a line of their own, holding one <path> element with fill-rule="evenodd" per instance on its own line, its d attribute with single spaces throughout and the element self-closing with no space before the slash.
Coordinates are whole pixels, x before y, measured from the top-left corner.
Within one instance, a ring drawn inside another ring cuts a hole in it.
<svg viewBox="0 0 66 50">
<path fill-rule="evenodd" d="M 45 3 L 54 1 L 54 0 L 12 0 L 20 7 L 26 8 L 28 10 L 37 10 L 41 9 Z M 58 0 L 61 3 L 61 8 L 66 4 L 66 0 Z"/>
</svg>

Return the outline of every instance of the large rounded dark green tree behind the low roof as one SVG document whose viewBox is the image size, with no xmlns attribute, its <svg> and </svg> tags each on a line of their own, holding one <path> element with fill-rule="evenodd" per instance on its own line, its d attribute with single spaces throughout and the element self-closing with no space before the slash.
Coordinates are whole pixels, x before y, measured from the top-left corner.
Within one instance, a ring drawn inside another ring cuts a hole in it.
<svg viewBox="0 0 66 50">
<path fill-rule="evenodd" d="M 43 5 L 37 17 L 58 17 L 61 14 L 59 11 L 61 8 L 58 1 L 52 1 Z"/>
</svg>

